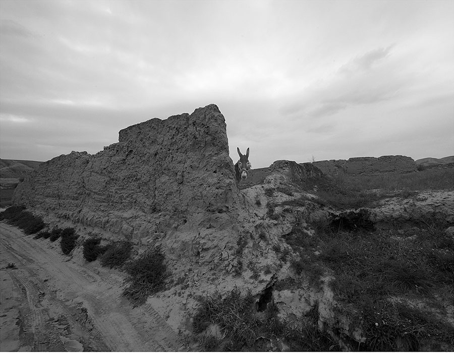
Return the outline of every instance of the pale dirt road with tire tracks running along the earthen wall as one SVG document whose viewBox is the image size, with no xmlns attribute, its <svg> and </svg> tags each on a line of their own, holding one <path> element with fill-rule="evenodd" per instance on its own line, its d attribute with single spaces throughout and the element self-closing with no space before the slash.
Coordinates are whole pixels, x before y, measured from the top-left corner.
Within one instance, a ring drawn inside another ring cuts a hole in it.
<svg viewBox="0 0 454 353">
<path fill-rule="evenodd" d="M 1 350 L 185 350 L 151 306 L 121 296 L 120 275 L 77 264 L 56 243 L 0 223 Z"/>
</svg>

